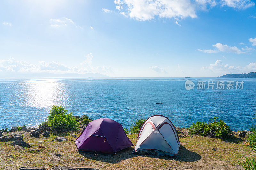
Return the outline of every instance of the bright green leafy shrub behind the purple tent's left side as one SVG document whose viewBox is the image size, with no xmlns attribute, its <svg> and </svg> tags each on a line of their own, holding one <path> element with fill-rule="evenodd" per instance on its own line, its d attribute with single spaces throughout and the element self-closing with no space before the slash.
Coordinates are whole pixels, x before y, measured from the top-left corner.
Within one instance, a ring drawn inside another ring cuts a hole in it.
<svg viewBox="0 0 256 170">
<path fill-rule="evenodd" d="M 48 125 L 52 131 L 59 132 L 61 130 L 76 130 L 79 125 L 76 118 L 72 117 L 72 112 L 67 113 L 62 106 L 52 106 L 49 116 L 47 117 Z"/>
</svg>

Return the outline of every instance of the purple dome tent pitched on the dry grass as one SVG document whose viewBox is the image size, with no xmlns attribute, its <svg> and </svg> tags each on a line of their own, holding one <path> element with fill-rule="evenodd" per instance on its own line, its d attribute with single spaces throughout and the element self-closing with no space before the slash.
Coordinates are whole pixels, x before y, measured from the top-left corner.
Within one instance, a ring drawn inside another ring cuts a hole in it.
<svg viewBox="0 0 256 170">
<path fill-rule="evenodd" d="M 133 146 L 122 125 L 108 118 L 90 122 L 75 143 L 79 152 L 108 154 Z"/>
</svg>

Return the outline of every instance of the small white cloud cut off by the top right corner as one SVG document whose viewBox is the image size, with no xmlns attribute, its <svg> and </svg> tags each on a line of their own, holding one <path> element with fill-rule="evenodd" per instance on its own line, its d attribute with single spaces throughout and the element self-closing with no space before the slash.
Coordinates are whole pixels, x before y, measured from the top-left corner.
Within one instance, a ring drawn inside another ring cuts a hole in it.
<svg viewBox="0 0 256 170">
<path fill-rule="evenodd" d="M 222 6 L 229 6 L 237 9 L 246 9 L 255 5 L 252 0 L 222 0 Z"/>
</svg>

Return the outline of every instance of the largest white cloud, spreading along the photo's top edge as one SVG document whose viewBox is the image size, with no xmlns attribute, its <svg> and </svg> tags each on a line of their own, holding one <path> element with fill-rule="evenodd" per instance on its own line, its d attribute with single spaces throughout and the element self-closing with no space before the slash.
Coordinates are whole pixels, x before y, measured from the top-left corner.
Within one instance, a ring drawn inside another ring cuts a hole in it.
<svg viewBox="0 0 256 170">
<path fill-rule="evenodd" d="M 160 18 L 196 18 L 196 12 L 208 10 L 219 4 L 237 9 L 249 8 L 251 0 L 114 0 L 116 9 L 127 11 L 128 16 L 138 21 Z"/>
</svg>

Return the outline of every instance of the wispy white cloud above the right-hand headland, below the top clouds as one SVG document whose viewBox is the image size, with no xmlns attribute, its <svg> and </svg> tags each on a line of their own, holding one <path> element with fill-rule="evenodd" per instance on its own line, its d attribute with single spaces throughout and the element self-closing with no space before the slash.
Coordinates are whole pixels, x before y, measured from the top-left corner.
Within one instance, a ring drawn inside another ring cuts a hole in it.
<svg viewBox="0 0 256 170">
<path fill-rule="evenodd" d="M 217 53 L 217 52 L 226 52 L 226 53 L 235 53 L 235 54 L 246 54 L 246 52 L 241 51 L 236 46 L 228 46 L 226 44 L 216 43 L 213 45 L 217 50 L 200 50 L 198 51 L 204 52 L 204 53 Z"/>
</svg>

